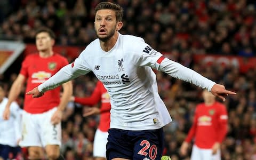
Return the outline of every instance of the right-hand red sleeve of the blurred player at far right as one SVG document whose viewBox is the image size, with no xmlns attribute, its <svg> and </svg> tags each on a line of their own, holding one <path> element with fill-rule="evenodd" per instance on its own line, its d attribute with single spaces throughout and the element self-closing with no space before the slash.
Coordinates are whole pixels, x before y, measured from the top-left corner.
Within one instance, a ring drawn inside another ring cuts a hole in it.
<svg viewBox="0 0 256 160">
<path fill-rule="evenodd" d="M 226 106 L 220 104 L 219 115 L 218 115 L 218 142 L 222 142 L 226 137 L 228 128 L 228 114 Z"/>
</svg>

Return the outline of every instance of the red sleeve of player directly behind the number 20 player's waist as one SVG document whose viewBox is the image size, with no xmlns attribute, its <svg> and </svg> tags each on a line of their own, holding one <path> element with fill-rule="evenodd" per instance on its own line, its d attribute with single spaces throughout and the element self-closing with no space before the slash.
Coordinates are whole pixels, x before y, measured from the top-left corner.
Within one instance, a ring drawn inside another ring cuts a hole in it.
<svg viewBox="0 0 256 160">
<path fill-rule="evenodd" d="M 101 87 L 100 82 L 98 82 L 90 97 L 84 97 L 84 98 L 75 97 L 75 102 L 80 103 L 81 105 L 90 105 L 90 106 L 96 105 L 98 102 L 100 102 L 100 99 L 101 99 L 100 87 Z"/>
</svg>

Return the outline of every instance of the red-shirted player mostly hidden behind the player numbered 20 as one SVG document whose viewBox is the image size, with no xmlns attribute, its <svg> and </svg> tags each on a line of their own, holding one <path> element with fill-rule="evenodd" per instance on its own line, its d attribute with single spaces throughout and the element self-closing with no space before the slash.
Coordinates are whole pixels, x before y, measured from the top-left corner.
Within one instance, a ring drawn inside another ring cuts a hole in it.
<svg viewBox="0 0 256 160">
<path fill-rule="evenodd" d="M 89 110 L 84 113 L 84 116 L 89 116 L 92 114 L 100 114 L 100 122 L 98 129 L 94 136 L 93 141 L 93 156 L 96 160 L 106 159 L 106 145 L 108 138 L 108 129 L 110 124 L 110 97 L 103 86 L 103 84 L 98 81 L 97 85 L 90 97 L 78 98 L 71 97 L 71 101 L 80 103 L 81 105 L 96 105 L 101 101 L 100 109 L 98 107 L 89 108 Z"/>
</svg>

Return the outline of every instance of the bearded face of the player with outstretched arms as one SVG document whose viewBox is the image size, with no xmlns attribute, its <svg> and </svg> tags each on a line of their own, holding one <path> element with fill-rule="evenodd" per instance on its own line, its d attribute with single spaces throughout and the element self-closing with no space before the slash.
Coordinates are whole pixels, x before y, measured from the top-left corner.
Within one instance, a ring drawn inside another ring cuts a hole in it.
<svg viewBox="0 0 256 160">
<path fill-rule="evenodd" d="M 99 10 L 95 14 L 94 29 L 97 37 L 106 42 L 123 26 L 122 22 L 116 21 L 116 13 L 113 10 Z"/>
</svg>

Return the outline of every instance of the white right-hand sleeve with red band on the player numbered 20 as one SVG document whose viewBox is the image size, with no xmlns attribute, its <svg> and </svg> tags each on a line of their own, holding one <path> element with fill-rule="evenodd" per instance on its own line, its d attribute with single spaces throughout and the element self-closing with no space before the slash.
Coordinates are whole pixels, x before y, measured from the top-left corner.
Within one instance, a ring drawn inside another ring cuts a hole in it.
<svg viewBox="0 0 256 160">
<path fill-rule="evenodd" d="M 182 66 L 178 62 L 165 58 L 162 53 L 154 50 L 145 43 L 143 39 L 139 39 L 138 42 L 135 42 L 133 53 L 133 60 L 137 66 L 150 66 L 151 68 L 163 71 L 174 78 L 194 84 L 202 89 L 207 89 L 209 92 L 215 84 L 215 82 L 198 74 L 196 71 Z"/>
</svg>

